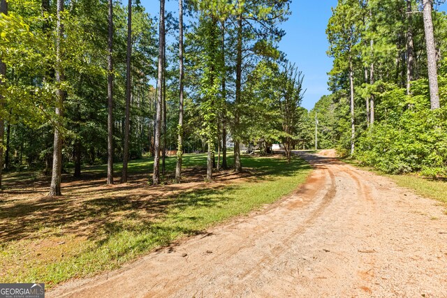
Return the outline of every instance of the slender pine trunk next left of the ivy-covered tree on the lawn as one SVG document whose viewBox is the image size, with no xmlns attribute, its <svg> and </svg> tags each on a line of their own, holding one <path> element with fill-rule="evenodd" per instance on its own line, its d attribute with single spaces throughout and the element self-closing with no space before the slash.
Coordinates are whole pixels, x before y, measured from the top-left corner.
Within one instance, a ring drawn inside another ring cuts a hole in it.
<svg viewBox="0 0 447 298">
<path fill-rule="evenodd" d="M 183 0 L 179 0 L 179 125 L 177 126 L 177 165 L 175 180 L 182 179 L 183 161 Z"/>
</svg>

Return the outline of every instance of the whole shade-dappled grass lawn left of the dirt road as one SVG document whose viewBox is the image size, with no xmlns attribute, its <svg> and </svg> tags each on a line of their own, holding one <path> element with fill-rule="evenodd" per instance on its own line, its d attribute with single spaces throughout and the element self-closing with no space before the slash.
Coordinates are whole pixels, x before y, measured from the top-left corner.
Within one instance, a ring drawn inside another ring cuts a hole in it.
<svg viewBox="0 0 447 298">
<path fill-rule="evenodd" d="M 230 158 L 229 163 L 232 163 Z M 91 276 L 200 234 L 291 193 L 310 166 L 300 158 L 244 156 L 242 174 L 229 170 L 206 183 L 206 156 L 186 155 L 184 183 L 150 186 L 152 160 L 129 164 L 128 184 L 105 185 L 105 166 L 87 167 L 80 180 L 63 178 L 60 198 L 47 198 L 49 180 L 9 174 L 0 197 L 0 281 L 43 282 Z M 167 180 L 175 157 L 167 159 Z M 119 177 L 119 167 L 115 167 Z"/>
</svg>

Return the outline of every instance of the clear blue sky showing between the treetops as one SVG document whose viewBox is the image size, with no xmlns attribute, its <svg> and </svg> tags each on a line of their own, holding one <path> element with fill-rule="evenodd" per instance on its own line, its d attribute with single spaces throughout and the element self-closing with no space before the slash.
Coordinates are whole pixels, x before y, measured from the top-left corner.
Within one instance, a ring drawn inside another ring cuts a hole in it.
<svg viewBox="0 0 447 298">
<path fill-rule="evenodd" d="M 159 15 L 159 1 L 141 0 L 141 3 L 151 15 Z M 331 8 L 335 6 L 337 0 L 292 0 L 292 14 L 281 24 L 286 36 L 279 43 L 279 50 L 305 75 L 303 84 L 307 91 L 302 106 L 307 110 L 312 109 L 321 96 L 329 94 L 327 73 L 332 68 L 332 59 L 326 54 L 329 45 L 325 30 Z M 438 8 L 446 11 L 447 4 Z M 166 10 L 175 11 L 177 15 L 178 2 L 167 1 Z"/>
</svg>

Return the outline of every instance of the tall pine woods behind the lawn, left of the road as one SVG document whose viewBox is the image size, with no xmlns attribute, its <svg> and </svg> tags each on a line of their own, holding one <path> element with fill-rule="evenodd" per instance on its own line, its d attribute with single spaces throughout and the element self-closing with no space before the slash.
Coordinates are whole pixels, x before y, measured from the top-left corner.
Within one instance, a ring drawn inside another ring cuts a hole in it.
<svg viewBox="0 0 447 298">
<path fill-rule="evenodd" d="M 240 143 L 281 142 L 290 159 L 305 113 L 302 73 L 277 48 L 289 4 L 161 0 L 155 17 L 131 0 L 1 0 L 0 169 L 41 169 L 60 195 L 61 173 L 108 163 L 112 184 L 122 161 L 126 182 L 143 154 L 153 184 L 166 151 L 177 181 L 183 153 L 208 153 L 209 180 L 242 170 Z"/>
</svg>

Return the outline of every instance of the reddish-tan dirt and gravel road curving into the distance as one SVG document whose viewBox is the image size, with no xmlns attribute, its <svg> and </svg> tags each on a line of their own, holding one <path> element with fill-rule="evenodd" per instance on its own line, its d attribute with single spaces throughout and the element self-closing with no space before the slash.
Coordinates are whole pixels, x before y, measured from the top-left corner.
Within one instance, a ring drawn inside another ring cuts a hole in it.
<svg viewBox="0 0 447 298">
<path fill-rule="evenodd" d="M 47 297 L 447 297 L 437 202 L 334 158 L 262 211 Z"/>
</svg>

